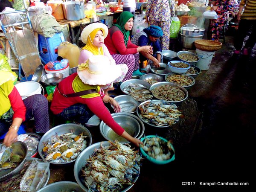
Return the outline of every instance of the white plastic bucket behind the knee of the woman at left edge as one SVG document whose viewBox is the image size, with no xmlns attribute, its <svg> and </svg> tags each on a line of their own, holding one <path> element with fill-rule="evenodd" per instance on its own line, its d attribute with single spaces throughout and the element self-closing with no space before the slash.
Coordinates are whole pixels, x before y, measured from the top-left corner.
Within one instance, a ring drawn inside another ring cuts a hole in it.
<svg viewBox="0 0 256 192">
<path fill-rule="evenodd" d="M 20 96 L 23 99 L 26 99 L 28 96 L 35 94 L 41 94 L 42 88 L 38 82 L 35 81 L 26 81 L 15 84 L 16 89 L 20 93 Z"/>
</svg>

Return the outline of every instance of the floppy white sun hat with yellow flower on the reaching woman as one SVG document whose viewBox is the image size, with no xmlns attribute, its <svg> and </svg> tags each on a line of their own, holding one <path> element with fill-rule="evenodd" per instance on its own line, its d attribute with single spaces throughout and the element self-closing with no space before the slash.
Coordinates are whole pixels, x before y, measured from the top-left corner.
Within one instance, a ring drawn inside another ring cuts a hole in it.
<svg viewBox="0 0 256 192">
<path fill-rule="evenodd" d="M 121 76 L 122 71 L 119 65 L 111 64 L 107 56 L 93 55 L 88 62 L 79 65 L 77 74 L 84 84 L 106 85 Z"/>
</svg>

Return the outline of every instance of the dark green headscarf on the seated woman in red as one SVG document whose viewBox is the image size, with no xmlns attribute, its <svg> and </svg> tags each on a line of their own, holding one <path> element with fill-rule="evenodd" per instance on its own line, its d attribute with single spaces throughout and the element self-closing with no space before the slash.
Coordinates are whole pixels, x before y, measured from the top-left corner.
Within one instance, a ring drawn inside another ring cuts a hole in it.
<svg viewBox="0 0 256 192">
<path fill-rule="evenodd" d="M 131 12 L 122 12 L 120 14 L 120 16 L 117 18 L 116 20 L 116 24 L 114 26 L 117 26 L 118 29 L 121 30 L 121 32 L 124 34 L 124 41 L 125 41 L 125 46 L 127 46 L 128 40 L 129 40 L 129 35 L 130 35 L 130 31 L 127 31 L 125 29 L 125 23 L 131 19 L 131 17 L 134 18 L 134 15 L 131 14 Z"/>
</svg>

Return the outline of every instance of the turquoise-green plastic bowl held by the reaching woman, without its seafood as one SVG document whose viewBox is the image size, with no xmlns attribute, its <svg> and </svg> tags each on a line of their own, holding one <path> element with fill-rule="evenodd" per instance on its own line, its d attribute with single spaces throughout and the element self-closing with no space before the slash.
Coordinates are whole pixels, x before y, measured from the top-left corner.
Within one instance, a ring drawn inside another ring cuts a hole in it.
<svg viewBox="0 0 256 192">
<path fill-rule="evenodd" d="M 152 138 L 152 137 L 159 137 L 159 136 L 156 136 L 156 135 L 148 135 L 148 136 L 146 136 L 146 138 Z M 159 137 L 159 138 L 160 138 L 161 140 L 165 141 L 166 143 L 168 142 L 168 140 L 166 140 L 166 139 L 163 138 L 163 137 Z M 145 137 L 142 137 L 140 140 L 143 142 L 143 141 L 145 140 Z M 140 152 L 141 152 L 142 156 L 145 157 L 145 158 L 146 158 L 147 160 L 149 160 L 150 162 L 155 163 L 155 164 L 159 164 L 159 165 L 163 165 L 163 164 L 167 164 L 167 163 L 170 163 L 170 162 L 172 162 L 173 160 L 175 160 L 175 150 L 174 150 L 174 147 L 172 146 L 172 144 L 171 144 L 171 148 L 172 148 L 172 150 L 173 150 L 173 152 L 174 152 L 174 154 L 172 155 L 172 158 L 170 158 L 169 160 L 163 160 L 163 161 L 161 161 L 161 160 L 156 160 L 156 159 L 154 159 L 153 157 L 150 157 L 150 156 L 143 150 L 142 147 L 140 147 Z"/>
</svg>

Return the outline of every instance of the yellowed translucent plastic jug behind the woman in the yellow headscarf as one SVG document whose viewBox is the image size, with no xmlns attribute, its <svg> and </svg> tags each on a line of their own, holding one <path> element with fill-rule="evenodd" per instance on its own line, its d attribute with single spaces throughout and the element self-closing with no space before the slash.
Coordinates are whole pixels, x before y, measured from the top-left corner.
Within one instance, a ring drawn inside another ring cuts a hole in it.
<svg viewBox="0 0 256 192">
<path fill-rule="evenodd" d="M 80 56 L 80 50 L 77 45 L 71 44 L 68 41 L 61 42 L 58 47 L 58 56 L 68 60 L 70 68 L 78 66 L 78 59 Z"/>
</svg>

